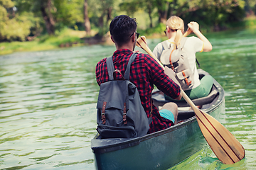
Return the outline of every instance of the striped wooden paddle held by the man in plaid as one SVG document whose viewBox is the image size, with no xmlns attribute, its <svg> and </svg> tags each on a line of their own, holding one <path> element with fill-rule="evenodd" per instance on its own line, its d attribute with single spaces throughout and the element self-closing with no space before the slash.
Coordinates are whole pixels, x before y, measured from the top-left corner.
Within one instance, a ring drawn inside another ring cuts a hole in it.
<svg viewBox="0 0 256 170">
<path fill-rule="evenodd" d="M 164 66 L 149 49 L 144 36 L 137 40 L 136 45 L 151 55 L 151 57 L 153 57 L 164 69 Z M 240 142 L 238 142 L 238 140 L 223 125 L 221 125 L 218 120 L 215 120 L 211 115 L 197 108 L 182 89 L 181 94 L 191 108 L 193 108 L 203 136 L 206 138 L 208 145 L 210 145 L 210 148 L 213 150 L 216 157 L 218 157 L 224 164 L 235 164 L 243 159 L 245 157 L 245 149 Z"/>
</svg>

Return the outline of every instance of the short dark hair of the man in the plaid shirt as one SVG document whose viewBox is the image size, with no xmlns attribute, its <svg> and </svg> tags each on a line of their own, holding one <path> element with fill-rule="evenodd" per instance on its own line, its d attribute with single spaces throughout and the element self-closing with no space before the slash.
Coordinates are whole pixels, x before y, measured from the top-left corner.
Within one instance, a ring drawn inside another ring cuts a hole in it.
<svg viewBox="0 0 256 170">
<path fill-rule="evenodd" d="M 126 15 L 116 16 L 110 23 L 110 35 L 117 45 L 124 45 L 129 42 L 130 35 L 137 29 L 135 18 Z"/>
</svg>

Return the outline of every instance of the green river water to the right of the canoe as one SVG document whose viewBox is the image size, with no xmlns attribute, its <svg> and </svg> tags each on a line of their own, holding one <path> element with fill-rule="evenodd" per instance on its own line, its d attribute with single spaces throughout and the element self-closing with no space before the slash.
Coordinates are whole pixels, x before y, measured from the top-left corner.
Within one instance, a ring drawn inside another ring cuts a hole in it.
<svg viewBox="0 0 256 170">
<path fill-rule="evenodd" d="M 225 114 L 221 123 L 245 148 L 245 159 L 221 164 L 207 146 L 171 169 L 255 169 L 256 154 L 256 29 L 209 38 L 213 51 L 198 54 L 207 70 L 225 89 Z"/>
</svg>

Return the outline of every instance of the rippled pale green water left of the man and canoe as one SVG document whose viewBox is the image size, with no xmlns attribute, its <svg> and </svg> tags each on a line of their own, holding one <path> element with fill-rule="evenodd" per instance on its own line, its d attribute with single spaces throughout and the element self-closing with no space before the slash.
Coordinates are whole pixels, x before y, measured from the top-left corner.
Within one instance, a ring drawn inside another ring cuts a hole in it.
<svg viewBox="0 0 256 170">
<path fill-rule="evenodd" d="M 95 63 L 114 47 L 0 58 L 1 169 L 94 169 Z"/>
</svg>

